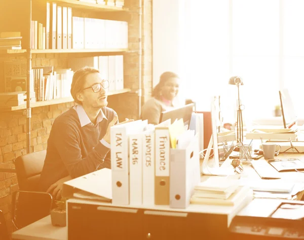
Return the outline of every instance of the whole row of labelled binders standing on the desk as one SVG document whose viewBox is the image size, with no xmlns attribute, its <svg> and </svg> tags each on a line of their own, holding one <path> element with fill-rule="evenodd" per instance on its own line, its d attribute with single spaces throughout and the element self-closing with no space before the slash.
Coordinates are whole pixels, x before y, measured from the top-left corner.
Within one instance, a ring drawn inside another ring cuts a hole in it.
<svg viewBox="0 0 304 240">
<path fill-rule="evenodd" d="M 200 182 L 199 143 L 182 119 L 115 125 L 110 142 L 113 204 L 188 206 Z"/>
</svg>

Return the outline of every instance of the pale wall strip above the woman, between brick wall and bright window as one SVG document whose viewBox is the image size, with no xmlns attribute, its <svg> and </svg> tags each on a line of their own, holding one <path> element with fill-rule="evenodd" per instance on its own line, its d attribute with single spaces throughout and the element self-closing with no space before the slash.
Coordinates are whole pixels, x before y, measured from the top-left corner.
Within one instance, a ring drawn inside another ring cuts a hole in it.
<svg viewBox="0 0 304 240">
<path fill-rule="evenodd" d="M 183 77 L 185 0 L 153 0 L 153 86 L 163 72 Z"/>
</svg>

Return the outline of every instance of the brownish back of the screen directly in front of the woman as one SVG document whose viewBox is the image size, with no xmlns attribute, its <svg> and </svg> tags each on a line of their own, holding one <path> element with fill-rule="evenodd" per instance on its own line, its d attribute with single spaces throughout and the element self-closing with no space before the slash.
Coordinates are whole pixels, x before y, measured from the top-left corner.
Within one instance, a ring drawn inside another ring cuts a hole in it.
<svg viewBox="0 0 304 240">
<path fill-rule="evenodd" d="M 172 110 L 167 110 L 165 112 L 161 113 L 160 117 L 160 123 L 171 119 L 171 123 L 173 123 L 175 120 L 183 119 L 184 125 L 190 125 L 191 116 L 193 112 L 194 104 L 187 104 L 185 106 L 182 106 L 180 108 L 175 108 Z"/>
</svg>

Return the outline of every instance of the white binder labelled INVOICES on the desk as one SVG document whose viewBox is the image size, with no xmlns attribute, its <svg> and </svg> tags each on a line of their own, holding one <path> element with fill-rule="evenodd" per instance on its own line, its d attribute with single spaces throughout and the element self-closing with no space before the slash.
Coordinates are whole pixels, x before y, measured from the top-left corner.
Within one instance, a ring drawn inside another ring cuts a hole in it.
<svg viewBox="0 0 304 240">
<path fill-rule="evenodd" d="M 142 143 L 142 204 L 154 205 L 155 132 L 154 126 L 143 132 Z"/>
</svg>

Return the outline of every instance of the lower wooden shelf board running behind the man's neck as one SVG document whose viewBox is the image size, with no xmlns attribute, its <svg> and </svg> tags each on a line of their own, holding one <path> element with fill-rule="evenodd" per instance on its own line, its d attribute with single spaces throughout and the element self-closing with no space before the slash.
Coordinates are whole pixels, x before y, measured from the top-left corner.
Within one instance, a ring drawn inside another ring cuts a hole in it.
<svg viewBox="0 0 304 240">
<path fill-rule="evenodd" d="M 126 93 L 126 92 L 130 92 L 130 91 L 131 91 L 130 88 L 124 88 L 122 90 L 108 92 L 107 95 L 108 96 L 116 95 L 116 94 Z M 56 98 L 56 99 L 52 99 L 52 100 L 32 102 L 30 104 L 30 107 L 31 108 L 43 107 L 43 106 L 54 105 L 54 104 L 63 104 L 64 102 L 71 102 L 71 101 L 74 101 L 74 99 L 72 97 L 62 97 L 62 98 Z M 20 106 L 15 106 L 15 107 L 0 107 L 0 112 L 10 112 L 10 111 L 23 110 L 23 109 L 26 109 L 26 104 L 20 105 Z"/>
</svg>

